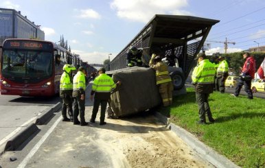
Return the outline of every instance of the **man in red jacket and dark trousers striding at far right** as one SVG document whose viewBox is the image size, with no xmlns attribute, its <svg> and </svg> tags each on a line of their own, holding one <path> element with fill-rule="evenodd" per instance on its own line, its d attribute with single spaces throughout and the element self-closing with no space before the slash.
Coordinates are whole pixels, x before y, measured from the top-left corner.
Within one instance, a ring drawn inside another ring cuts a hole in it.
<svg viewBox="0 0 265 168">
<path fill-rule="evenodd" d="M 244 62 L 244 66 L 241 70 L 238 84 L 235 87 L 235 93 L 232 95 L 238 97 L 240 90 L 244 85 L 245 91 L 248 94 L 249 99 L 253 99 L 253 93 L 251 90 L 251 80 L 255 76 L 256 62 L 253 56 L 250 56 L 249 53 L 244 53 L 243 58 L 246 59 L 246 61 Z"/>
</svg>

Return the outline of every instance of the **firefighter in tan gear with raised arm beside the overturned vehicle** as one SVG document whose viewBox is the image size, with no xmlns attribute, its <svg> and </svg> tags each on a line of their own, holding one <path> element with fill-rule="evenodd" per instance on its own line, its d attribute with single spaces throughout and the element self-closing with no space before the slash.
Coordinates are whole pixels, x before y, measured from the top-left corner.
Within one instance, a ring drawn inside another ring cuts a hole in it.
<svg viewBox="0 0 265 168">
<path fill-rule="evenodd" d="M 172 104 L 173 84 L 168 73 L 168 65 L 162 62 L 161 56 L 152 54 L 149 66 L 156 71 L 157 85 L 159 86 L 163 106 L 170 106 Z"/>
</svg>

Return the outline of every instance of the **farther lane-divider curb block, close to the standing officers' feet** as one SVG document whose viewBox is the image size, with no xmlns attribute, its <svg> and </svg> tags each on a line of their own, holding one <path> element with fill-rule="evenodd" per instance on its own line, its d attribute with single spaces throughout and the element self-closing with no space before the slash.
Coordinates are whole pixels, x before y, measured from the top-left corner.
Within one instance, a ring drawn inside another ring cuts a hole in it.
<svg viewBox="0 0 265 168">
<path fill-rule="evenodd" d="M 51 118 L 52 115 L 54 115 L 54 112 L 57 112 L 62 107 L 62 104 L 58 102 L 55 106 L 52 108 L 49 108 L 48 110 L 45 110 L 36 118 L 36 125 L 43 125 L 48 119 Z"/>
</svg>

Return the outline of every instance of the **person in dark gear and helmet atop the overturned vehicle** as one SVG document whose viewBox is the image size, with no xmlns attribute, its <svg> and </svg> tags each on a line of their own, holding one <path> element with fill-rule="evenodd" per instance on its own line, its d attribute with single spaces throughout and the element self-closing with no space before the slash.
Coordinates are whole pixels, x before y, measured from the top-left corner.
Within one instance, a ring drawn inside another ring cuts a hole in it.
<svg viewBox="0 0 265 168">
<path fill-rule="evenodd" d="M 135 46 L 131 47 L 127 53 L 127 66 L 128 67 L 141 66 L 143 64 L 141 60 L 142 53 L 143 50 L 137 49 L 137 47 Z"/>
</svg>

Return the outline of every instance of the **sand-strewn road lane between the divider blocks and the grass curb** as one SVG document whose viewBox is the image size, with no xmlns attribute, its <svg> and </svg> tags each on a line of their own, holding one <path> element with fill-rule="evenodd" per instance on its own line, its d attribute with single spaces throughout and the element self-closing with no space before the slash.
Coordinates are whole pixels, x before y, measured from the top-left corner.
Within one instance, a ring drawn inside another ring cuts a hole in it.
<svg viewBox="0 0 265 168">
<path fill-rule="evenodd" d="M 87 91 L 86 95 L 89 95 Z M 86 97 L 85 119 L 93 102 Z M 214 167 L 151 114 L 106 119 L 81 127 L 60 112 L 19 149 L 0 156 L 1 167 Z M 16 158 L 13 162 L 9 158 Z"/>
</svg>

